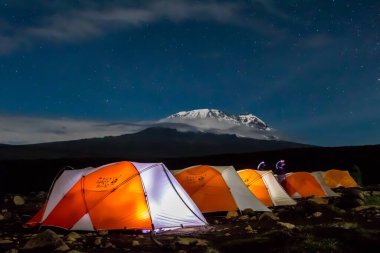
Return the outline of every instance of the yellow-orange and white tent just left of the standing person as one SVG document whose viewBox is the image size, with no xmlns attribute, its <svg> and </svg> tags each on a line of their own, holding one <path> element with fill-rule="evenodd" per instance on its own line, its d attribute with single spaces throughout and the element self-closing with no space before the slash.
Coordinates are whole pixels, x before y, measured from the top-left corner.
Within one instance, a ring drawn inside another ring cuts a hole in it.
<svg viewBox="0 0 380 253">
<path fill-rule="evenodd" d="M 295 205 L 294 201 L 278 183 L 271 170 L 239 170 L 238 174 L 248 189 L 266 206 Z"/>
</svg>

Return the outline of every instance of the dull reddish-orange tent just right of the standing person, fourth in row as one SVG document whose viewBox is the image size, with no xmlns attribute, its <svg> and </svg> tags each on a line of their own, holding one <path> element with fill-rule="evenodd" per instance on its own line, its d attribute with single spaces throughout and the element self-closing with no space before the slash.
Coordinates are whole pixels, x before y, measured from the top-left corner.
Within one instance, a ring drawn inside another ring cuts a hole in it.
<svg viewBox="0 0 380 253">
<path fill-rule="evenodd" d="M 281 185 L 292 198 L 338 196 L 319 175 L 309 172 L 286 173 L 286 178 Z"/>
</svg>

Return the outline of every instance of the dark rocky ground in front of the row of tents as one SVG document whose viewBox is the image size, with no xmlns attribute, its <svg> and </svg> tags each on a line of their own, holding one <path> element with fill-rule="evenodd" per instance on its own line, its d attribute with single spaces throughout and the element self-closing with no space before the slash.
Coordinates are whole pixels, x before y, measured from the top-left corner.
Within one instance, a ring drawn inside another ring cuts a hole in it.
<svg viewBox="0 0 380 253">
<path fill-rule="evenodd" d="M 0 199 L 0 252 L 379 252 L 380 187 L 337 189 L 273 212 L 208 215 L 209 226 L 165 231 L 73 232 L 23 224 L 46 193 Z"/>
</svg>

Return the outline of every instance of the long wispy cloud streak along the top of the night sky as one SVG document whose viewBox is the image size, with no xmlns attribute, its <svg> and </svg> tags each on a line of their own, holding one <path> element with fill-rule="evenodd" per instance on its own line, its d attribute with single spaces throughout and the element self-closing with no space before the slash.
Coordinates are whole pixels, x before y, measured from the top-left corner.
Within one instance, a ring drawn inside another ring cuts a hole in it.
<svg viewBox="0 0 380 253">
<path fill-rule="evenodd" d="M 160 20 L 232 24 L 278 38 L 285 32 L 283 29 L 271 25 L 263 18 L 249 17 L 249 12 L 253 7 L 270 16 L 288 19 L 287 14 L 270 0 L 256 0 L 251 5 L 243 1 L 211 0 L 152 0 L 132 4 L 110 1 L 101 6 L 91 1 L 84 1 L 75 7 L 56 1 L 43 2 L 40 5 L 40 15 L 35 18 L 32 25 L 12 27 L 11 22 L 3 22 L 8 28 L 6 32 L 0 29 L 0 54 L 33 45 L 37 41 L 78 42 Z M 44 8 L 48 10 L 46 13 Z"/>
</svg>

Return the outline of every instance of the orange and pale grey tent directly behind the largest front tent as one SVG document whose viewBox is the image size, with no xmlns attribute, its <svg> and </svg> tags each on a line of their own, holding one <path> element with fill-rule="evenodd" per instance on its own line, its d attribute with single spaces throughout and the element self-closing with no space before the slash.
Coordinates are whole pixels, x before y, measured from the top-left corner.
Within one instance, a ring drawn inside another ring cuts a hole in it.
<svg viewBox="0 0 380 253">
<path fill-rule="evenodd" d="M 232 166 L 197 165 L 172 173 L 202 213 L 247 208 L 270 211 L 250 192 Z"/>
</svg>

